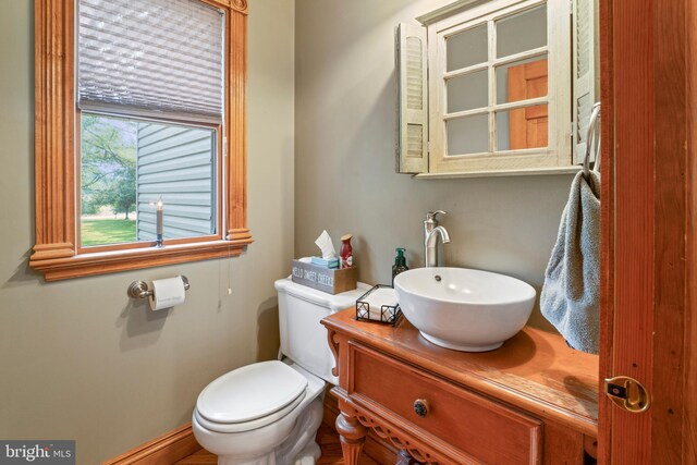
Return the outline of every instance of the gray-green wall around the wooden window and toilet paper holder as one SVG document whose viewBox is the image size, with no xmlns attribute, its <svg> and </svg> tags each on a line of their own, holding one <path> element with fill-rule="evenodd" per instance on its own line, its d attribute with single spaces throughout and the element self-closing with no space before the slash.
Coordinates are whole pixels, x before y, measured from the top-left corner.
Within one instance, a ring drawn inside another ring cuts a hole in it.
<svg viewBox="0 0 697 465">
<path fill-rule="evenodd" d="M 96 464 L 187 423 L 217 376 L 276 356 L 273 280 L 293 256 L 294 2 L 249 3 L 247 254 L 45 283 L 27 267 L 33 2 L 0 0 L 0 438 L 76 439 L 77 463 Z M 126 297 L 134 280 L 178 273 L 192 289 L 169 314 Z"/>
</svg>

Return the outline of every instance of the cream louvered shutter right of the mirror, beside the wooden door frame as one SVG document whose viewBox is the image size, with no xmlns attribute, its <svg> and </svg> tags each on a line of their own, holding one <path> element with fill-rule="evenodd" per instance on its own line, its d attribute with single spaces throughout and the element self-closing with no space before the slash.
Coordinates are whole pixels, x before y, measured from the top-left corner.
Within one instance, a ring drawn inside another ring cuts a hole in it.
<svg viewBox="0 0 697 465">
<path fill-rule="evenodd" d="M 596 68 L 596 0 L 573 0 L 574 36 L 574 163 L 583 163 L 588 121 L 592 106 L 599 100 Z M 594 151 L 591 151 L 592 156 Z"/>
</svg>

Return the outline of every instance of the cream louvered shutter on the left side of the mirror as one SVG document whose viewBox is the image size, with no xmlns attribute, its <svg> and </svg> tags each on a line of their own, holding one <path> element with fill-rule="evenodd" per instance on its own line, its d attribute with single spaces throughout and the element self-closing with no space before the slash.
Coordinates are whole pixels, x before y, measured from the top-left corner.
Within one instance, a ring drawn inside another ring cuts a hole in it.
<svg viewBox="0 0 697 465">
<path fill-rule="evenodd" d="M 428 171 L 426 28 L 401 23 L 396 33 L 399 142 L 396 171 Z"/>
</svg>

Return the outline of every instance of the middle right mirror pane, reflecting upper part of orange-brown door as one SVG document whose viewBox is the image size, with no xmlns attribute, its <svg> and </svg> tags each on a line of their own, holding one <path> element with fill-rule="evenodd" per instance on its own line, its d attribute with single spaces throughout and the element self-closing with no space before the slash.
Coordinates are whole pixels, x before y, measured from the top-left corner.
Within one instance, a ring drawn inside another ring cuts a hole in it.
<svg viewBox="0 0 697 465">
<path fill-rule="evenodd" d="M 547 96 L 547 56 L 497 66 L 497 103 Z"/>
</svg>

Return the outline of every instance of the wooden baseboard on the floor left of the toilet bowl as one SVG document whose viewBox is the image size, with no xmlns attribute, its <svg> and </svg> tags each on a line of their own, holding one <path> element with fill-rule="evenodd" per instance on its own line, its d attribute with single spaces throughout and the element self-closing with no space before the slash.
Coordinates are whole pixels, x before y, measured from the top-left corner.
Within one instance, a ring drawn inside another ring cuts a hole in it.
<svg viewBox="0 0 697 465">
<path fill-rule="evenodd" d="M 101 465 L 172 465 L 200 449 L 189 423 Z"/>
</svg>

